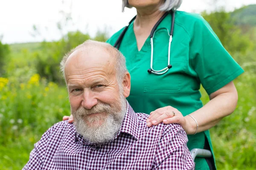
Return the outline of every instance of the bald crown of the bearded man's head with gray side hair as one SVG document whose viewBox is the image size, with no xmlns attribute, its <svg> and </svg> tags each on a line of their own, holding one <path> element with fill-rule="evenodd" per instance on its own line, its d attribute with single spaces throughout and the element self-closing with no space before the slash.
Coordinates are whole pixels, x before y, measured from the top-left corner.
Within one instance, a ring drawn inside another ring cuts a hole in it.
<svg viewBox="0 0 256 170">
<path fill-rule="evenodd" d="M 81 67 L 90 68 L 95 64 L 109 72 L 116 74 L 117 81 L 122 81 L 125 72 L 125 57 L 106 42 L 87 40 L 67 53 L 61 60 L 61 72 L 67 83 L 65 71 L 67 68 L 77 70 Z"/>
</svg>

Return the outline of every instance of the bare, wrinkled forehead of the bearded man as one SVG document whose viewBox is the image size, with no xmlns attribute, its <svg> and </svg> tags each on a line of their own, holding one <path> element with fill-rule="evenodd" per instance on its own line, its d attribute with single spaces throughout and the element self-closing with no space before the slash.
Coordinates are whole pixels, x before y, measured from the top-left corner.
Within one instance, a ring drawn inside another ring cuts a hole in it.
<svg viewBox="0 0 256 170">
<path fill-rule="evenodd" d="M 109 77 L 116 75 L 115 57 L 102 48 L 78 49 L 67 60 L 64 68 L 65 79 L 74 77 Z M 99 76 L 97 76 L 99 75 Z"/>
</svg>

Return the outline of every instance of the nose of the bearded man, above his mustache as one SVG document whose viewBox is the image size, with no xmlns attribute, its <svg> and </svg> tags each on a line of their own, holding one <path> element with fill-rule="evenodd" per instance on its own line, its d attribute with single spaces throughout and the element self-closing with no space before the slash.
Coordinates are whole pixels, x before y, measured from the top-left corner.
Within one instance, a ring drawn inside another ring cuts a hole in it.
<svg viewBox="0 0 256 170">
<path fill-rule="evenodd" d="M 82 106 L 86 109 L 91 109 L 94 105 L 98 103 L 95 95 L 90 90 L 84 90 Z"/>
</svg>

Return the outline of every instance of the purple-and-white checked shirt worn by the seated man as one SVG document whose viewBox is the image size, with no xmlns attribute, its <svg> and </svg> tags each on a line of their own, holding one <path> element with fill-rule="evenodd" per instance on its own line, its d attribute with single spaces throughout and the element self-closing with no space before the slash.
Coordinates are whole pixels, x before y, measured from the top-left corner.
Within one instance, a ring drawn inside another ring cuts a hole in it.
<svg viewBox="0 0 256 170">
<path fill-rule="evenodd" d="M 115 139 L 100 145 L 85 140 L 73 124 L 58 122 L 35 144 L 23 170 L 192 170 L 183 128 L 163 123 L 147 127 L 147 118 L 127 102 Z"/>
</svg>

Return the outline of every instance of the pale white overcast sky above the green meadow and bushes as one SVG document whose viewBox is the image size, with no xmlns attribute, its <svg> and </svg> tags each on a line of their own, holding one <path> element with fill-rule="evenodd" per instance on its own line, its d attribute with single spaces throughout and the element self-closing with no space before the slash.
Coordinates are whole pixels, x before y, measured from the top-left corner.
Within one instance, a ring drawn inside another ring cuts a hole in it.
<svg viewBox="0 0 256 170">
<path fill-rule="evenodd" d="M 220 1 L 228 11 L 256 4 L 256 0 Z M 112 35 L 136 15 L 134 8 L 125 8 L 122 13 L 121 6 L 122 0 L 0 0 L 0 35 L 3 35 L 3 43 L 58 40 L 61 32 L 57 29 L 57 22 L 64 18 L 60 11 L 71 11 L 73 19 L 64 33 L 79 29 L 94 36 L 97 30 L 107 28 Z M 183 0 L 179 10 L 199 13 L 212 8 L 213 4 L 206 0 Z M 31 35 L 33 25 L 41 35 Z"/>
</svg>

